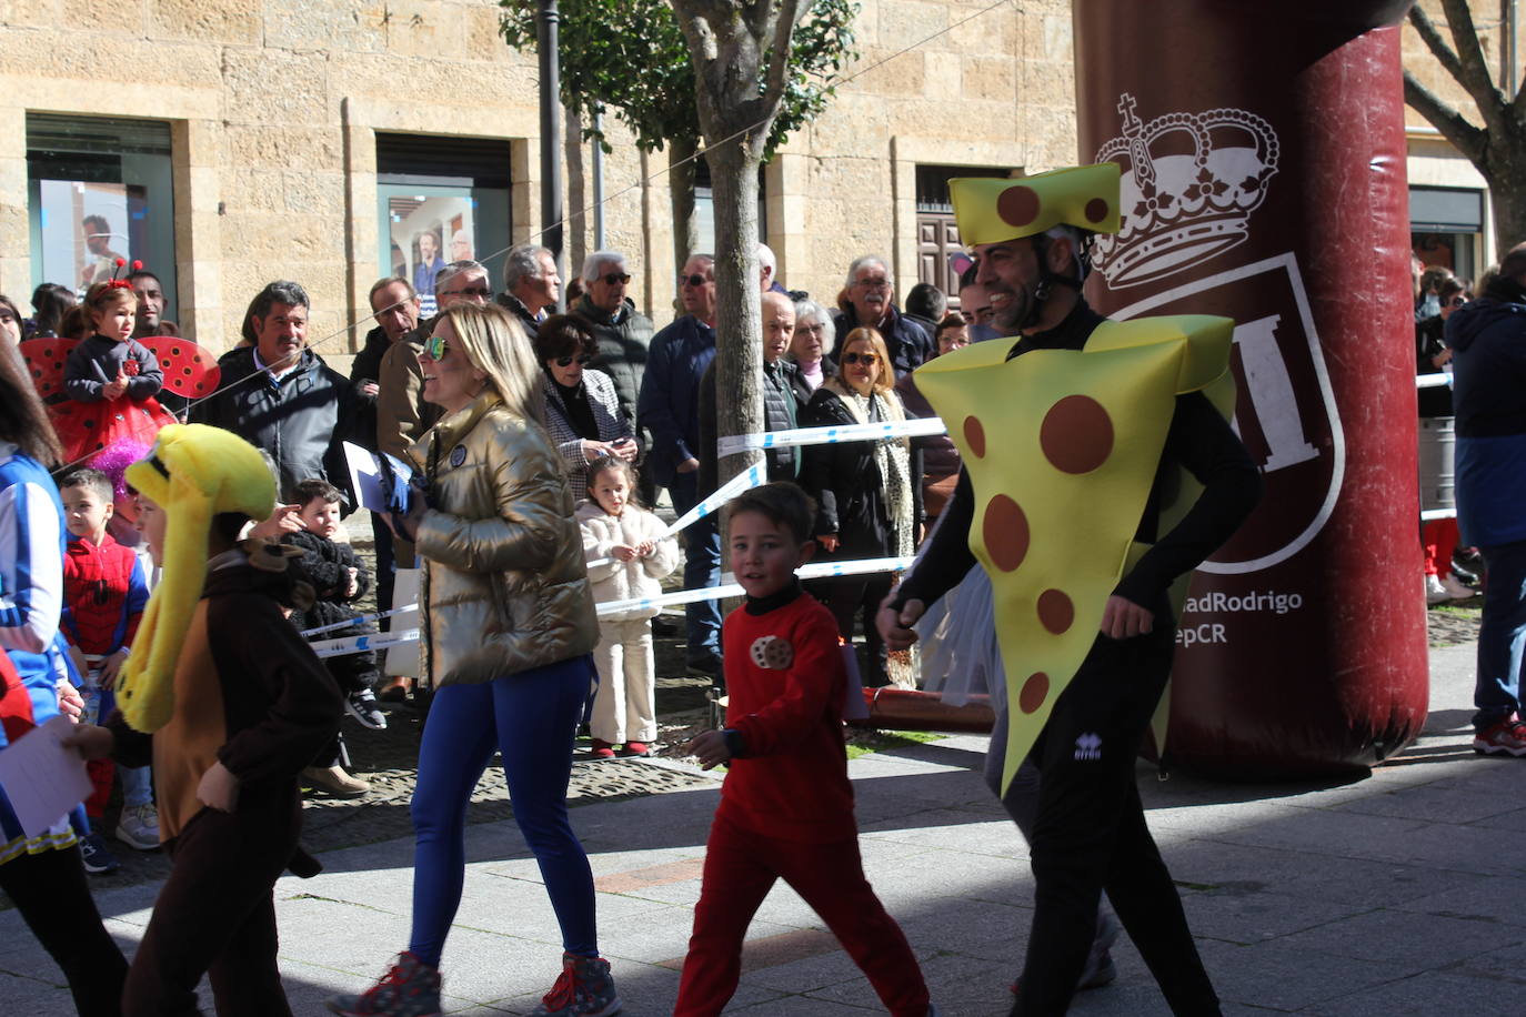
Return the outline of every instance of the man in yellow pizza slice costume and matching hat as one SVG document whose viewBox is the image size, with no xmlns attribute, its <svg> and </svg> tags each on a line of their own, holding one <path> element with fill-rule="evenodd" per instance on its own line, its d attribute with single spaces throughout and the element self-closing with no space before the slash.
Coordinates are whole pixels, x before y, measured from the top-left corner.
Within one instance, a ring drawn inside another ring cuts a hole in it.
<svg viewBox="0 0 1526 1017">
<path fill-rule="evenodd" d="M 925 605 L 975 561 L 990 576 L 1007 672 L 1003 787 L 1030 753 L 1042 775 L 1033 929 L 1012 1012 L 1065 1011 L 1105 889 L 1172 1011 L 1218 1014 L 1134 759 L 1170 674 L 1170 585 L 1260 496 L 1225 419 L 1233 323 L 1108 322 L 1087 305 L 1085 239 L 1119 227 L 1112 163 L 949 188 L 995 323 L 1016 338 L 917 372 L 964 467 L 882 631 L 909 645 Z"/>
</svg>

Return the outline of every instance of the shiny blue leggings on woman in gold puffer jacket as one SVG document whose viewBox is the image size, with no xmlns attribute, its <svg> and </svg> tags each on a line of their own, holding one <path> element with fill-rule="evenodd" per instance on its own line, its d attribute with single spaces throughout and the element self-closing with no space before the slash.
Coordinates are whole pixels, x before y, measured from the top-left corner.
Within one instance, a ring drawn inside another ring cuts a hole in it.
<svg viewBox="0 0 1526 1017">
<path fill-rule="evenodd" d="M 414 929 L 407 948 L 424 964 L 439 967 L 461 904 L 467 802 L 494 750 L 504 753 L 514 822 L 536 852 L 563 948 L 598 956 L 594 872 L 566 807 L 572 738 L 592 675 L 592 659 L 581 656 L 435 692 L 412 805 Z"/>
</svg>

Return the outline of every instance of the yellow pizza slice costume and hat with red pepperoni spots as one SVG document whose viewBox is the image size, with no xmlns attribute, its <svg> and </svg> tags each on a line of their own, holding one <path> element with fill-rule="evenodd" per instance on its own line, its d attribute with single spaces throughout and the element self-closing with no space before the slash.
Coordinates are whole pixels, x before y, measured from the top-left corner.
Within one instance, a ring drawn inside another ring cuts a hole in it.
<svg viewBox="0 0 1526 1017">
<path fill-rule="evenodd" d="M 1117 229 L 1111 163 L 1019 181 L 952 180 L 949 188 L 966 244 L 1058 223 Z M 1204 390 L 1219 412 L 1233 410 L 1233 328 L 1206 316 L 1105 322 L 1080 351 L 1035 349 L 1007 360 L 1012 342 L 992 340 L 917 371 L 917 387 L 948 425 L 975 492 L 969 546 L 990 576 L 1007 672 L 1003 788 L 1091 650 L 1108 596 L 1148 549 L 1134 537 L 1177 396 Z M 1183 479 L 1161 509 L 1161 532 L 1201 494 L 1190 474 Z M 1184 593 L 1187 578 L 1178 585 Z M 1158 727 L 1157 744 L 1163 736 Z"/>
</svg>

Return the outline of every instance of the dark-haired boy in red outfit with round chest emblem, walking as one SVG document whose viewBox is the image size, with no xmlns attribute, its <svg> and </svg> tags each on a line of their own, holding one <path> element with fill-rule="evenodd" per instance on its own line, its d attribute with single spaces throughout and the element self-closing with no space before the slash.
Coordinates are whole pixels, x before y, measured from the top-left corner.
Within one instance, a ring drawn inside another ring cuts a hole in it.
<svg viewBox="0 0 1526 1017">
<path fill-rule="evenodd" d="M 821 915 L 894 1017 L 935 1017 L 917 958 L 859 860 L 838 627 L 795 579 L 815 550 L 810 499 L 780 482 L 728 508 L 731 570 L 748 598 L 722 631 L 726 727 L 690 744 L 707 770 L 725 762 L 728 773 L 673 1017 L 725 1008 L 748 922 L 778 878 Z"/>
</svg>

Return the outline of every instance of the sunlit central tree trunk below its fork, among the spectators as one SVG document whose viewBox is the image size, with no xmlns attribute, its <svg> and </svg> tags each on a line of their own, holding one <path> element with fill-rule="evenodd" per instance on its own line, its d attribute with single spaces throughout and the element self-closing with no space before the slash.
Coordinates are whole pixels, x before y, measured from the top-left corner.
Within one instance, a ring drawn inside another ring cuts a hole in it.
<svg viewBox="0 0 1526 1017">
<path fill-rule="evenodd" d="M 757 159 L 736 142 L 705 149 L 716 207 L 716 433 L 763 430 L 763 310 L 758 297 Z M 725 456 L 728 480 L 763 459 L 758 450 Z"/>
</svg>

